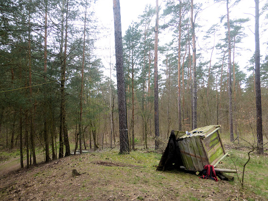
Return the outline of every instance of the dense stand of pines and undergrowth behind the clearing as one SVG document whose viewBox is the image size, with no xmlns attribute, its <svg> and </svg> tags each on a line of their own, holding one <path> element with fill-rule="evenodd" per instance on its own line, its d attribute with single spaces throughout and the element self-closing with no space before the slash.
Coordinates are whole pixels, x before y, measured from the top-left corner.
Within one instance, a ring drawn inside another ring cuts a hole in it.
<svg viewBox="0 0 268 201">
<path fill-rule="evenodd" d="M 208 2 L 224 11 L 210 27 L 198 20 L 208 15 Z M 118 97 L 114 45 L 98 46 L 114 30 L 99 23 L 96 0 L 1 0 L 1 148 L 20 150 L 20 166 L 30 167 L 37 153 L 48 162 L 85 149 L 119 147 L 123 98 L 128 151 L 157 148 L 172 130 L 221 125 L 226 141 L 254 141 L 263 153 L 268 1 L 248 18 L 233 18 L 243 0 L 208 2 L 153 1 L 137 14 L 122 32 L 125 97 Z M 251 32 L 249 24 L 255 27 Z M 256 50 L 241 60 L 248 35 Z"/>
</svg>

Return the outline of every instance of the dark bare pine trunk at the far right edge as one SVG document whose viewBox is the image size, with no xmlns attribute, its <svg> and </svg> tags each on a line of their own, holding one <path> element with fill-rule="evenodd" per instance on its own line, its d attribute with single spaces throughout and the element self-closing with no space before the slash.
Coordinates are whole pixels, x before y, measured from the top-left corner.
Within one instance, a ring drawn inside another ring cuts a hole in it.
<svg viewBox="0 0 268 201">
<path fill-rule="evenodd" d="M 255 88 L 256 88 L 256 129 L 257 153 L 264 154 L 262 126 L 262 95 L 260 75 L 260 35 L 259 35 L 259 0 L 255 0 Z"/>
</svg>

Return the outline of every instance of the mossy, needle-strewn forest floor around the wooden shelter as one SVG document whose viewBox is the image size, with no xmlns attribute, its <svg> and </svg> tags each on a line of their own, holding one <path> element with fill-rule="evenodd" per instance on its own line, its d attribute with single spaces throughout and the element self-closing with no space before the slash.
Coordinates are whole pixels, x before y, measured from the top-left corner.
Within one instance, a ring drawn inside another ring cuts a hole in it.
<svg viewBox="0 0 268 201">
<path fill-rule="evenodd" d="M 249 147 L 237 144 L 225 147 L 231 157 L 226 157 L 219 167 L 235 169 L 230 160 L 233 159 L 241 177 Z M 15 157 L 0 163 L 0 200 L 264 201 L 268 200 L 267 153 L 266 147 L 264 156 L 251 154 L 244 189 L 234 174 L 234 181 L 216 182 L 199 179 L 190 172 L 156 171 L 161 153 L 153 148 L 127 155 L 118 155 L 116 149 L 90 150 L 29 169 L 17 169 L 15 163 L 19 161 Z M 9 172 L 3 168 L 8 164 Z M 81 175 L 74 177 L 73 169 Z"/>
</svg>

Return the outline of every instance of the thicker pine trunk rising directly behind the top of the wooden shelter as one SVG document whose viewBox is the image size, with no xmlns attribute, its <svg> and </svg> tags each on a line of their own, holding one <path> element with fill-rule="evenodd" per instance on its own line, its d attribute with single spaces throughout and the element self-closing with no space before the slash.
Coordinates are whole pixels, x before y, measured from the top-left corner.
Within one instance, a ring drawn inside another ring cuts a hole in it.
<svg viewBox="0 0 268 201">
<path fill-rule="evenodd" d="M 191 0 L 191 29 L 192 29 L 192 129 L 197 128 L 197 82 L 196 82 L 196 47 L 195 47 L 195 24 L 193 19 L 193 0 Z"/>
</svg>

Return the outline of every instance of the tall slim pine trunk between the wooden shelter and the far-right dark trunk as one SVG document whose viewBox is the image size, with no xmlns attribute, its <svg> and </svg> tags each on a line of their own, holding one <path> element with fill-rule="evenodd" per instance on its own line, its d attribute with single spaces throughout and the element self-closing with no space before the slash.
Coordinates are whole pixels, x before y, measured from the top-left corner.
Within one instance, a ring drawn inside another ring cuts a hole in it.
<svg viewBox="0 0 268 201">
<path fill-rule="evenodd" d="M 227 25 L 228 25 L 228 66 L 229 66 L 229 126 L 230 126 L 230 141 L 233 139 L 233 120 L 232 120 L 232 77 L 231 77 L 231 37 L 230 37 L 230 19 L 229 19 L 229 0 L 227 0 Z"/>
</svg>

